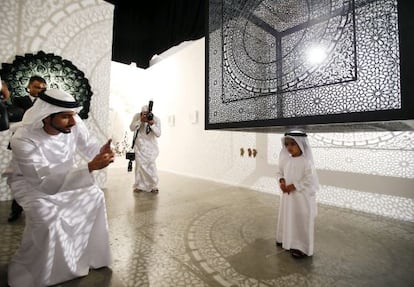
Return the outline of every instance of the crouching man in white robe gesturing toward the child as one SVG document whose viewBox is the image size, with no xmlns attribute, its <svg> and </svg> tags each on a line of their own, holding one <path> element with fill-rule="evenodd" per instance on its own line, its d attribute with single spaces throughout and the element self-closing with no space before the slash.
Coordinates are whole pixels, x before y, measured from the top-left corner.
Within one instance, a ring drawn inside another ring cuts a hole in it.
<svg viewBox="0 0 414 287">
<path fill-rule="evenodd" d="M 114 160 L 109 140 L 92 138 L 70 94 L 48 90 L 11 139 L 8 177 L 26 226 L 9 265 L 11 287 L 46 286 L 111 263 L 105 198 L 93 171 Z M 80 152 L 88 163 L 75 163 Z"/>
</svg>

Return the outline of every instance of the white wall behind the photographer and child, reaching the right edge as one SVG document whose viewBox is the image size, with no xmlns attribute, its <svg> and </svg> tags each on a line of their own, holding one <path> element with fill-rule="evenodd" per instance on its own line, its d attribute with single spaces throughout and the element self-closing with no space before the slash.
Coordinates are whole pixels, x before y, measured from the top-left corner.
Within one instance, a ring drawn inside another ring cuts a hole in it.
<svg viewBox="0 0 414 287">
<path fill-rule="evenodd" d="M 279 194 L 281 134 L 204 130 L 204 44 L 194 41 L 147 70 L 113 63 L 112 117 L 123 119 L 112 129 L 114 138 L 126 133 L 130 144 L 133 113 L 152 98 L 162 121 L 160 170 Z M 413 132 L 317 133 L 309 140 L 321 183 L 318 202 L 414 221 Z M 256 157 L 248 156 L 249 148 Z"/>
</svg>

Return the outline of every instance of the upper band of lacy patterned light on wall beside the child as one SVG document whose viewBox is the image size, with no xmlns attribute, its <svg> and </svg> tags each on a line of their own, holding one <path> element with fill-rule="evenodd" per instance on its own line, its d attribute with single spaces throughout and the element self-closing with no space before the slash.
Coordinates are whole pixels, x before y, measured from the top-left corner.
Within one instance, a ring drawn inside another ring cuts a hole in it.
<svg viewBox="0 0 414 287">
<path fill-rule="evenodd" d="M 414 133 L 310 134 L 319 169 L 414 178 Z"/>
</svg>

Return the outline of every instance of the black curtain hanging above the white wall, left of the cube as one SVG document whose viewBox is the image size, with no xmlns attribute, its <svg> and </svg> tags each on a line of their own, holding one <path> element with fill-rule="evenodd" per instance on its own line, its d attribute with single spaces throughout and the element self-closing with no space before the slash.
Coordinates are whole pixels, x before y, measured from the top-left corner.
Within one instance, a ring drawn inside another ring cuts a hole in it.
<svg viewBox="0 0 414 287">
<path fill-rule="evenodd" d="M 114 4 L 112 60 L 148 68 L 153 55 L 205 36 L 207 0 L 108 0 Z"/>
</svg>

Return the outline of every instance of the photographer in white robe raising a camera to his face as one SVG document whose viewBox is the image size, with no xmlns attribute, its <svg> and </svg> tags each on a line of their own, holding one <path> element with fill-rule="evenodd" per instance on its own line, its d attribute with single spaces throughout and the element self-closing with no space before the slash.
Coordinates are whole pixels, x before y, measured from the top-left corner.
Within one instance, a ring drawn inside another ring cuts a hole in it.
<svg viewBox="0 0 414 287">
<path fill-rule="evenodd" d="M 157 138 L 161 135 L 161 122 L 152 113 L 152 104 L 145 105 L 141 113 L 134 115 L 129 126 L 134 132 L 135 184 L 134 192 L 158 193 L 158 172 L 155 160 L 158 157 Z"/>
</svg>

